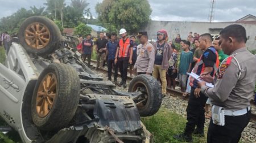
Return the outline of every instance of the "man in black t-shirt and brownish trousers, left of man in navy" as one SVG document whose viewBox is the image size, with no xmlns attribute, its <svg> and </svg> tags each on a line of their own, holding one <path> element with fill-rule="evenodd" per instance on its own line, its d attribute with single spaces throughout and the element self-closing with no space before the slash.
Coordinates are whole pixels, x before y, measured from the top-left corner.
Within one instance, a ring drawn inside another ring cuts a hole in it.
<svg viewBox="0 0 256 143">
<path fill-rule="evenodd" d="M 97 52 L 97 67 L 96 69 L 103 68 L 105 52 L 106 52 L 106 44 L 108 40 L 104 38 L 104 33 L 100 33 L 100 38 L 96 41 L 96 52 Z"/>
</svg>

